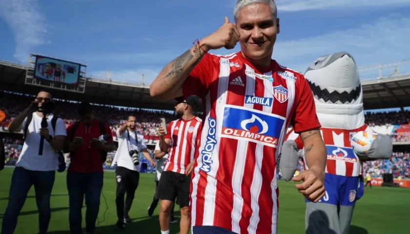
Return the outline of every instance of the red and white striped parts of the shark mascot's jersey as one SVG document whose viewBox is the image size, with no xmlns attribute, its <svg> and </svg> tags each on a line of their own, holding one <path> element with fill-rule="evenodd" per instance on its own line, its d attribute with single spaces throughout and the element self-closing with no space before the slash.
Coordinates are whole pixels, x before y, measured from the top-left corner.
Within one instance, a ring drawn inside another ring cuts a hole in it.
<svg viewBox="0 0 410 234">
<path fill-rule="evenodd" d="M 343 130 L 343 129 L 332 129 L 332 128 L 321 128 L 320 132 L 322 134 L 323 141 L 325 145 L 329 146 L 337 146 L 337 147 L 345 147 L 351 148 L 350 139 L 355 133 L 359 131 L 367 131 L 368 126 L 363 125 L 363 127 L 353 130 Z M 298 148 L 303 149 L 302 139 L 299 135 L 296 135 L 293 132 L 288 133 L 288 139 L 294 139 Z M 305 165 L 305 169 L 308 169 L 308 164 L 306 163 L 305 154 L 303 155 L 303 161 Z M 339 159 L 329 158 L 326 163 L 326 170 L 325 172 L 332 175 L 338 176 L 359 176 L 362 175 L 362 163 L 360 162 L 359 158 L 356 156 L 356 161 L 345 161 Z"/>
</svg>

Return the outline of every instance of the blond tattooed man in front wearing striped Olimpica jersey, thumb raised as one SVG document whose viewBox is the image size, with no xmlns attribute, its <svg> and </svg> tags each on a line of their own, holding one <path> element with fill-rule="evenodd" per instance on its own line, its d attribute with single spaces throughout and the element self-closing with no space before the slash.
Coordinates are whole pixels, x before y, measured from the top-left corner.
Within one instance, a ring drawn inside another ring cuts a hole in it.
<svg viewBox="0 0 410 234">
<path fill-rule="evenodd" d="M 313 202 L 325 195 L 326 148 L 311 90 L 302 74 L 271 59 L 276 16 L 273 0 L 238 0 L 235 24 L 225 18 L 151 84 L 158 99 L 202 98 L 205 120 L 191 178 L 193 234 L 276 234 L 277 159 L 289 124 L 302 137 L 309 164 L 296 188 Z M 241 52 L 208 53 L 238 41 Z"/>
</svg>

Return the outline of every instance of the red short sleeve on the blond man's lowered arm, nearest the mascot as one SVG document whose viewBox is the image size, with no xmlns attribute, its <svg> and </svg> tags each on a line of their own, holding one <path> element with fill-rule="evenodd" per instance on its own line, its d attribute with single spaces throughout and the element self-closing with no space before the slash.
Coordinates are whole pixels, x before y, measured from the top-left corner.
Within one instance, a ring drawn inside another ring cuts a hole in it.
<svg viewBox="0 0 410 234">
<path fill-rule="evenodd" d="M 296 88 L 295 111 L 290 119 L 295 133 L 301 133 L 314 128 L 320 128 L 320 122 L 316 115 L 316 107 L 312 90 L 305 77 L 298 78 L 299 85 Z"/>
</svg>

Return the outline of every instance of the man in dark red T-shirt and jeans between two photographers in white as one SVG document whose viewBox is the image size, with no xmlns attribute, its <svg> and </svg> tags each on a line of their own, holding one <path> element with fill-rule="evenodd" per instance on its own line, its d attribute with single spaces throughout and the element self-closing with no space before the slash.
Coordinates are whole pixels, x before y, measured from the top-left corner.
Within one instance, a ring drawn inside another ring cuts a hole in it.
<svg viewBox="0 0 410 234">
<path fill-rule="evenodd" d="M 69 223 L 72 234 L 82 233 L 82 205 L 85 195 L 85 233 L 93 234 L 100 209 L 103 182 L 102 164 L 107 152 L 114 149 L 112 133 L 108 123 L 94 118 L 92 106 L 82 102 L 78 106 L 80 121 L 67 127 L 67 142 L 70 165 L 67 170 L 69 196 Z M 108 135 L 106 143 L 100 136 Z"/>
</svg>

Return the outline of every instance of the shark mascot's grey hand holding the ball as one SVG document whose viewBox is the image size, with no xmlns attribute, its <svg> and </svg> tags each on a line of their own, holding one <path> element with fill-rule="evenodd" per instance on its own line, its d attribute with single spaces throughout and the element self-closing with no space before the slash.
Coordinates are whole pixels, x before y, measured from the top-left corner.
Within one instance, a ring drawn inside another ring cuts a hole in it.
<svg viewBox="0 0 410 234">
<path fill-rule="evenodd" d="M 371 143 L 369 153 L 366 156 L 359 156 L 363 161 L 390 159 L 393 154 L 393 143 L 387 135 L 378 134 Z"/>
</svg>

